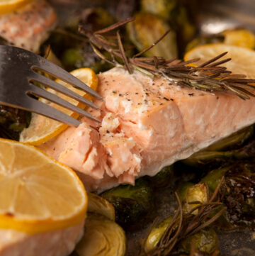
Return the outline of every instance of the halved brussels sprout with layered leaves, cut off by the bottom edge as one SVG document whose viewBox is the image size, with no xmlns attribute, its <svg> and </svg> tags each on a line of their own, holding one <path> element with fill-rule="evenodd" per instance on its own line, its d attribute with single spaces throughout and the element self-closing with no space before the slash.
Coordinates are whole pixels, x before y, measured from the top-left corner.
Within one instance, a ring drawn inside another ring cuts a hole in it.
<svg viewBox="0 0 255 256">
<path fill-rule="evenodd" d="M 125 250 L 125 233 L 117 223 L 104 216 L 88 216 L 76 248 L 79 256 L 124 256 Z"/>
</svg>

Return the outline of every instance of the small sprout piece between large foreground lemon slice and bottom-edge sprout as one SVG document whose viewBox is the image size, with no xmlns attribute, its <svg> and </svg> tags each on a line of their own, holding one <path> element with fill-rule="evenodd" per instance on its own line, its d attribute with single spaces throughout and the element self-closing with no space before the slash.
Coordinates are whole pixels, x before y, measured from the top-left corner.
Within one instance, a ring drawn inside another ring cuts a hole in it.
<svg viewBox="0 0 255 256">
<path fill-rule="evenodd" d="M 106 199 L 96 194 L 88 193 L 88 212 L 106 216 L 109 220 L 115 221 L 115 209 Z"/>
</svg>

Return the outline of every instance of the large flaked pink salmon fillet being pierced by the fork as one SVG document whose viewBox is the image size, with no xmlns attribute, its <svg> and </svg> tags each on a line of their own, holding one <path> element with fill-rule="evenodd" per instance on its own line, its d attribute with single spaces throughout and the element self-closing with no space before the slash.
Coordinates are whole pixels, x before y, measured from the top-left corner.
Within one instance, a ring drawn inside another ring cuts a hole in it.
<svg viewBox="0 0 255 256">
<path fill-rule="evenodd" d="M 255 99 L 211 93 L 152 79 L 121 67 L 98 74 L 89 111 L 100 124 L 83 118 L 40 148 L 72 167 L 86 189 L 103 191 L 135 178 L 153 176 L 255 121 Z"/>
</svg>

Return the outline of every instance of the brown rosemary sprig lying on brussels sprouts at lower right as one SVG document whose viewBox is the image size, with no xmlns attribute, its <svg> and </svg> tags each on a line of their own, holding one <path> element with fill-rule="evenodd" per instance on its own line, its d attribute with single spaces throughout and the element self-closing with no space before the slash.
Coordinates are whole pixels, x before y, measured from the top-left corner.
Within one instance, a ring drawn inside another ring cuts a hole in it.
<svg viewBox="0 0 255 256">
<path fill-rule="evenodd" d="M 157 246 L 154 247 L 154 249 L 152 249 L 150 252 L 142 252 L 142 255 L 177 255 L 178 252 L 176 251 L 176 245 L 178 245 L 181 240 L 193 235 L 194 233 L 197 233 L 199 230 L 202 230 L 215 222 L 217 218 L 219 218 L 226 210 L 226 207 L 222 204 L 223 194 L 220 193 L 223 180 L 224 177 L 222 177 L 211 197 L 209 196 L 209 189 L 207 187 L 207 203 L 201 204 L 197 201 L 190 203 L 199 205 L 194 207 L 189 213 L 186 214 L 183 213 L 181 201 L 178 194 L 176 194 L 179 208 L 176 210 L 171 222 L 169 223 L 169 226 L 166 228 L 162 238 L 160 238 L 159 243 L 157 243 Z M 198 211 L 198 213 L 194 215 L 194 211 Z M 195 254 L 191 253 L 191 255 Z"/>
</svg>

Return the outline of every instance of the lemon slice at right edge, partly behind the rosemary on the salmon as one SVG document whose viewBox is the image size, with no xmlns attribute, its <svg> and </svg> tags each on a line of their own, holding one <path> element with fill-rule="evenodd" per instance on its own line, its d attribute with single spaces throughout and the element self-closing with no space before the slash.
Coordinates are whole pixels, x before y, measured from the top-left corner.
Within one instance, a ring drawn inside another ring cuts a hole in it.
<svg viewBox="0 0 255 256">
<path fill-rule="evenodd" d="M 245 74 L 248 78 L 255 78 L 255 51 L 235 45 L 225 45 L 223 43 L 215 43 L 208 45 L 200 45 L 193 48 L 184 56 L 184 60 L 191 60 L 199 57 L 200 60 L 196 65 L 212 59 L 220 55 L 222 52 L 228 52 L 223 58 L 231 57 L 232 60 L 222 64 L 234 74 Z M 223 60 L 222 58 L 222 60 Z"/>
</svg>

